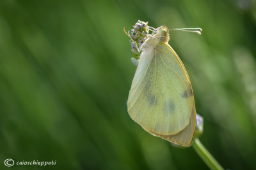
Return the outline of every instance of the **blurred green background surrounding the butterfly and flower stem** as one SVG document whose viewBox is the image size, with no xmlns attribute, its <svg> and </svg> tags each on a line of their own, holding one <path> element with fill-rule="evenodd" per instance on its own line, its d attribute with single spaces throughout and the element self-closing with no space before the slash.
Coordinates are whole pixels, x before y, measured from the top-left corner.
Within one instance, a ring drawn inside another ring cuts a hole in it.
<svg viewBox="0 0 256 170">
<path fill-rule="evenodd" d="M 151 136 L 127 113 L 137 20 L 172 31 L 205 147 L 225 169 L 255 169 L 256 2 L 0 1 L 0 169 L 208 169 L 193 148 Z"/>
</svg>

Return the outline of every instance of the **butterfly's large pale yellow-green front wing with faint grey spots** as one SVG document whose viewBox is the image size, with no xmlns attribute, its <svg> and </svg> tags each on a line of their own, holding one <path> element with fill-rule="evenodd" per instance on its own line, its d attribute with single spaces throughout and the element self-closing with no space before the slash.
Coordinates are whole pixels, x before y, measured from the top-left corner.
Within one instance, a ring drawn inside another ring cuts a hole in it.
<svg viewBox="0 0 256 170">
<path fill-rule="evenodd" d="M 195 108 L 191 83 L 170 46 L 159 44 L 141 54 L 127 105 L 131 118 L 148 132 L 169 136 L 188 126 Z"/>
</svg>

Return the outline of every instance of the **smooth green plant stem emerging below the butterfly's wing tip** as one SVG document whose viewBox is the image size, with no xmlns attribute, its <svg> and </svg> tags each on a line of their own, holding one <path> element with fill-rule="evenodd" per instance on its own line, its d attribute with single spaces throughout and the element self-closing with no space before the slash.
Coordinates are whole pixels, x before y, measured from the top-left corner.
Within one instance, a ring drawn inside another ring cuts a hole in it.
<svg viewBox="0 0 256 170">
<path fill-rule="evenodd" d="M 204 160 L 205 164 L 212 169 L 212 170 L 224 170 L 223 167 L 217 162 L 217 160 L 212 157 L 211 153 L 207 151 L 207 149 L 202 145 L 198 138 L 194 139 L 193 148 L 195 149 L 196 153 Z"/>
</svg>

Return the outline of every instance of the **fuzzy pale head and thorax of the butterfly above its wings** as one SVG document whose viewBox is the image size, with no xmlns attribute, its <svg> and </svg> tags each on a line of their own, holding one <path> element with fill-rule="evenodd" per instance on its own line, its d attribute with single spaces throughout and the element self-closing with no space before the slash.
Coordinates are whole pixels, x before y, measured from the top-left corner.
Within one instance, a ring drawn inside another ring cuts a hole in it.
<svg viewBox="0 0 256 170">
<path fill-rule="evenodd" d="M 153 49 L 159 45 L 159 43 L 168 43 L 170 39 L 168 32 L 166 26 L 158 27 L 155 32 L 148 36 L 145 43 L 141 46 L 141 50 L 145 50 L 145 48 L 147 50 L 150 48 Z"/>
</svg>

